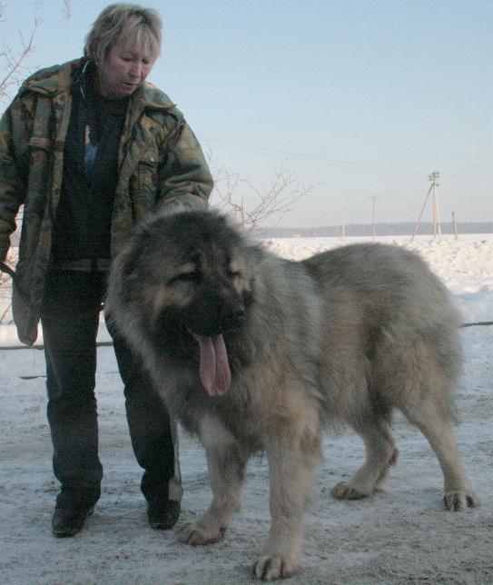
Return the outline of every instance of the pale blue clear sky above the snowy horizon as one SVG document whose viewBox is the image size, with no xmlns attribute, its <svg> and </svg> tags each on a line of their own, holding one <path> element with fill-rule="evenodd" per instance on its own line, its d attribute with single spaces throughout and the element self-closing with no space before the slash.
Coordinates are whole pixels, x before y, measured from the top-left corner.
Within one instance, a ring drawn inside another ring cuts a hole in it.
<svg viewBox="0 0 493 585">
<path fill-rule="evenodd" d="M 65 4 L 6 0 L 13 50 L 43 18 L 32 71 L 82 55 L 111 2 L 72 0 L 68 19 Z M 435 171 L 442 222 L 493 221 L 491 0 L 143 5 L 164 23 L 149 80 L 182 110 L 220 189 L 238 178 L 249 208 L 280 175 L 281 196 L 306 192 L 267 223 L 371 223 L 373 210 L 376 222 L 414 223 Z"/>
</svg>

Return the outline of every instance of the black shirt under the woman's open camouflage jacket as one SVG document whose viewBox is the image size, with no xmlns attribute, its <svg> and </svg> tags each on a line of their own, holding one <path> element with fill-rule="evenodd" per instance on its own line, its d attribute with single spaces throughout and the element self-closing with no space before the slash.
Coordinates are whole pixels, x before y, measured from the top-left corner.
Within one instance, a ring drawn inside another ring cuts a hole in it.
<svg viewBox="0 0 493 585">
<path fill-rule="evenodd" d="M 129 98 L 108 100 L 97 94 L 93 73 L 87 67 L 73 88 L 62 194 L 54 223 L 54 263 L 111 256 L 118 146 Z"/>
</svg>

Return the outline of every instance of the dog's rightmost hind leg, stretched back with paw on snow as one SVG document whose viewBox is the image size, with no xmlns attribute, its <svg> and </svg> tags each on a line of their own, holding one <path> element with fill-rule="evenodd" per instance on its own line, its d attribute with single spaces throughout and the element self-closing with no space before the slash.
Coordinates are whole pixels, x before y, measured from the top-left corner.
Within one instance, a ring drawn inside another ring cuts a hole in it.
<svg viewBox="0 0 493 585">
<path fill-rule="evenodd" d="M 428 439 L 443 472 L 443 504 L 446 510 L 461 511 L 476 508 L 478 498 L 472 489 L 460 461 L 448 409 L 429 392 L 419 403 L 407 404 L 402 411 L 410 422 L 419 427 Z"/>
</svg>

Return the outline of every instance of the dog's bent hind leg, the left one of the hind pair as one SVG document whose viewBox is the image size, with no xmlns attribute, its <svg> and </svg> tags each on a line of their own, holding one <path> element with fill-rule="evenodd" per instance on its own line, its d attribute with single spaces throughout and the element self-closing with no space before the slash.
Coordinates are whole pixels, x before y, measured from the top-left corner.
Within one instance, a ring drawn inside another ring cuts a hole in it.
<svg viewBox="0 0 493 585">
<path fill-rule="evenodd" d="M 366 460 L 350 481 L 340 481 L 332 488 L 330 495 L 338 500 L 360 500 L 377 491 L 399 454 L 387 417 L 371 413 L 350 424 L 364 442 Z"/>
</svg>

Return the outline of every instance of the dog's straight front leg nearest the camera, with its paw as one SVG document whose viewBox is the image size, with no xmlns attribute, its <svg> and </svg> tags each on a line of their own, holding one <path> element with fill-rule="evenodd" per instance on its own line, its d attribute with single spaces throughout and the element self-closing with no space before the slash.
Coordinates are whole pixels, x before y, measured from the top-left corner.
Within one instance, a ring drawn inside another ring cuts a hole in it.
<svg viewBox="0 0 493 585">
<path fill-rule="evenodd" d="M 315 426 L 307 424 L 301 433 L 297 431 L 285 428 L 279 432 L 277 427 L 266 443 L 271 481 L 271 530 L 263 555 L 253 565 L 258 579 L 289 577 L 300 568 L 303 517 L 313 473 L 320 463 L 320 431 L 318 423 Z"/>
</svg>

